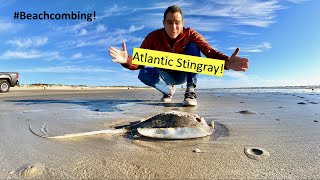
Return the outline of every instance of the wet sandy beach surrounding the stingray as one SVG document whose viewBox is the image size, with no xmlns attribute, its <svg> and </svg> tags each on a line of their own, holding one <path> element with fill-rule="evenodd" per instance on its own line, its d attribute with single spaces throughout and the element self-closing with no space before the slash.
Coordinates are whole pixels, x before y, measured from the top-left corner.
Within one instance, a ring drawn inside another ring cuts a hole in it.
<svg viewBox="0 0 320 180">
<path fill-rule="evenodd" d="M 162 103 L 150 88 L 12 88 L 0 94 L 0 179 L 320 179 L 320 89 L 198 90 L 197 107 L 182 107 L 183 95 Z M 29 129 L 88 132 L 172 110 L 214 120 L 215 133 L 52 140 Z"/>
</svg>

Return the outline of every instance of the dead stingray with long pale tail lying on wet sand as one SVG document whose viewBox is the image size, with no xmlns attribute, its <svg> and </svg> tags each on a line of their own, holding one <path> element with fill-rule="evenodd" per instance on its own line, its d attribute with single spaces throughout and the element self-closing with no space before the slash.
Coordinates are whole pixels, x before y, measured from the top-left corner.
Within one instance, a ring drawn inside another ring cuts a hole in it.
<svg viewBox="0 0 320 180">
<path fill-rule="evenodd" d="M 125 133 L 131 133 L 133 136 L 142 135 L 150 138 L 160 139 L 191 139 L 209 136 L 214 131 L 213 121 L 208 125 L 205 119 L 197 114 L 177 111 L 160 113 L 144 121 L 134 122 L 129 125 L 116 126 L 114 129 L 65 134 L 60 136 L 47 136 L 45 125 L 41 128 L 41 131 L 45 135 L 39 135 L 35 133 L 31 129 L 31 125 L 29 126 L 29 129 L 37 136 L 50 139 L 73 138 L 97 134 L 114 135 Z"/>
</svg>

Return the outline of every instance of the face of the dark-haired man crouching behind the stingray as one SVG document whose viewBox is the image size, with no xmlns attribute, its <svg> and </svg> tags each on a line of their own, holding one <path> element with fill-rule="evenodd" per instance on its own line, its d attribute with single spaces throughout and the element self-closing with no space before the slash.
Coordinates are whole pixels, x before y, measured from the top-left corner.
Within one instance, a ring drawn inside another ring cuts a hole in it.
<svg viewBox="0 0 320 180">
<path fill-rule="evenodd" d="M 175 39 L 183 31 L 183 19 L 179 12 L 171 13 L 166 15 L 166 19 L 163 20 L 164 29 L 167 35 L 171 39 Z"/>
</svg>

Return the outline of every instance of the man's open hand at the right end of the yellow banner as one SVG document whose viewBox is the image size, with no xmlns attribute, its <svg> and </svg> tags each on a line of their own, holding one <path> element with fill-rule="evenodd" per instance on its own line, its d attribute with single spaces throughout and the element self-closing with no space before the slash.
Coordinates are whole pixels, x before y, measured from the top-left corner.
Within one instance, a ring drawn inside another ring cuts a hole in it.
<svg viewBox="0 0 320 180">
<path fill-rule="evenodd" d="M 226 61 L 226 66 L 229 69 L 235 70 L 235 71 L 246 71 L 246 68 L 248 68 L 248 59 L 238 57 L 237 54 L 239 53 L 240 49 L 237 48 L 232 56 L 230 57 L 229 61 Z"/>
</svg>

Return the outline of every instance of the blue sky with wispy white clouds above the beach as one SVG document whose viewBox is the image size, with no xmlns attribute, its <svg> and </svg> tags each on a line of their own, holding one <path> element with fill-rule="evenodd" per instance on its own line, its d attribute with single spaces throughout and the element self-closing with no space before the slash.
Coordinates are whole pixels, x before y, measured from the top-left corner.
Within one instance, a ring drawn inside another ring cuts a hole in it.
<svg viewBox="0 0 320 180">
<path fill-rule="evenodd" d="M 111 62 L 110 46 L 126 41 L 129 54 L 162 28 L 173 4 L 185 27 L 217 50 L 249 58 L 247 72 L 200 75 L 198 87 L 320 85 L 320 1 L 7 1 L 0 0 L 0 72 L 17 71 L 21 84 L 143 86 L 139 71 Z M 95 20 L 14 20 L 14 12 L 96 12 Z"/>
</svg>

